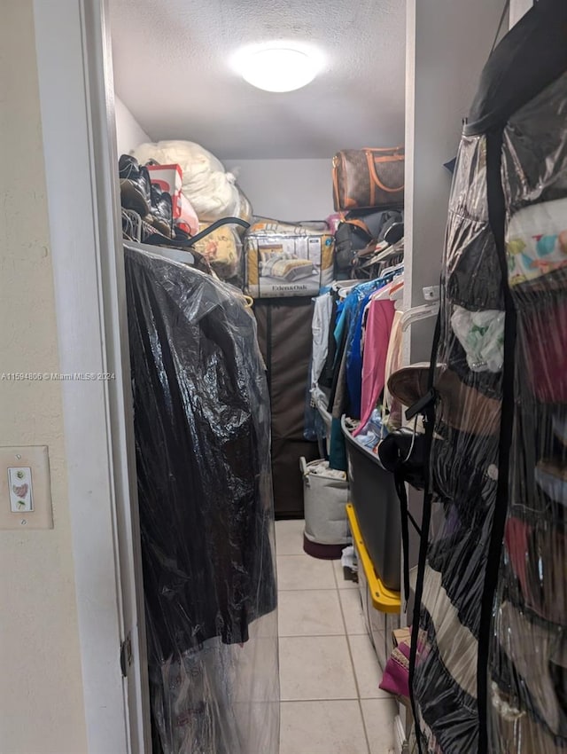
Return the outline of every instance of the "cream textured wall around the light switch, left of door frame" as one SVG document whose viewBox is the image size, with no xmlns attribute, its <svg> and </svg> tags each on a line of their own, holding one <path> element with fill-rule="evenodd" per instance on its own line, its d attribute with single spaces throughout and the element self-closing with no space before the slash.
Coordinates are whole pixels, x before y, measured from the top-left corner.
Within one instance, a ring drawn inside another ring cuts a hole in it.
<svg viewBox="0 0 567 754">
<path fill-rule="evenodd" d="M 32 0 L 2 11 L 0 371 L 58 372 Z M 0 531 L 2 754 L 87 750 L 60 384 L 0 380 L 0 445 L 49 446 L 54 518 Z"/>
</svg>

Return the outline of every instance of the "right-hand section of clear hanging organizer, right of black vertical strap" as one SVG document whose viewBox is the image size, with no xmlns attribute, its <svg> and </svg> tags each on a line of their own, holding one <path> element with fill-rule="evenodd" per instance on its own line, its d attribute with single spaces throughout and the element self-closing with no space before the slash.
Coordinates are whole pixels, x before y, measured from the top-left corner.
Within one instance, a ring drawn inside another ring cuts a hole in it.
<svg viewBox="0 0 567 754">
<path fill-rule="evenodd" d="M 545 56 L 546 77 L 501 137 L 516 333 L 509 464 L 501 469 L 509 498 L 486 681 L 494 754 L 567 751 L 567 5 L 539 6 L 524 34 L 533 29 L 529 43 Z"/>
</svg>

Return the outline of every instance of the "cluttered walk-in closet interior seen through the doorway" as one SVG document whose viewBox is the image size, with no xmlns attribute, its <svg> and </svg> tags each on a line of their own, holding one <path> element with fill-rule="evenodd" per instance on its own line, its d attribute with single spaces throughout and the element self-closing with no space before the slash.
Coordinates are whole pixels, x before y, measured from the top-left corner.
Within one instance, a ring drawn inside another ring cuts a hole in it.
<svg viewBox="0 0 567 754">
<path fill-rule="evenodd" d="M 153 754 L 563 750 L 562 2 L 107 5 Z"/>
</svg>

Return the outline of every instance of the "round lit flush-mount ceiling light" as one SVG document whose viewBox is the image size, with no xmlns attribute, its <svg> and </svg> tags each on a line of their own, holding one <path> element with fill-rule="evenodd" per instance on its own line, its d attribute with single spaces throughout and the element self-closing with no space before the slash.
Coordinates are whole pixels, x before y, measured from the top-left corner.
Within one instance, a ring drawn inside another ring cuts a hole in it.
<svg viewBox="0 0 567 754">
<path fill-rule="evenodd" d="M 314 51 L 290 43 L 270 43 L 240 51 L 235 67 L 246 82 L 265 91 L 293 91 L 307 86 L 320 72 Z"/>
</svg>

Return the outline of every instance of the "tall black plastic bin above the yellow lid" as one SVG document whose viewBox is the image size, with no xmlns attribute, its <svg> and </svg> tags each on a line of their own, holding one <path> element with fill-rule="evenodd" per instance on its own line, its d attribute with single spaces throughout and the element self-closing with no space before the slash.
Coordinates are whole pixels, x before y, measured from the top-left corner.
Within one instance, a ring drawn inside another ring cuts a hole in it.
<svg viewBox="0 0 567 754">
<path fill-rule="evenodd" d="M 350 501 L 361 528 L 362 539 L 377 575 L 387 589 L 400 591 L 401 521 L 400 500 L 393 475 L 375 453 L 351 436 L 345 417 L 341 421 L 346 439 Z"/>
</svg>

